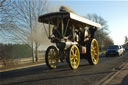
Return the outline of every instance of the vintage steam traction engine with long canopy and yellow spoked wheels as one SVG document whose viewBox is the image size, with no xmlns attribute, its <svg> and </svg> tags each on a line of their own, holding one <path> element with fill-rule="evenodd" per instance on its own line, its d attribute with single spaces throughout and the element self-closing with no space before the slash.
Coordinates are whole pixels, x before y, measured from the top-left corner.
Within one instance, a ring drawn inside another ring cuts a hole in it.
<svg viewBox="0 0 128 85">
<path fill-rule="evenodd" d="M 83 58 L 91 65 L 98 63 L 99 48 L 94 34 L 101 27 L 100 24 L 66 11 L 44 14 L 39 16 L 38 21 L 43 23 L 48 39 L 56 44 L 49 46 L 45 53 L 45 61 L 50 69 L 56 68 L 64 60 L 71 69 L 77 69 Z"/>
</svg>

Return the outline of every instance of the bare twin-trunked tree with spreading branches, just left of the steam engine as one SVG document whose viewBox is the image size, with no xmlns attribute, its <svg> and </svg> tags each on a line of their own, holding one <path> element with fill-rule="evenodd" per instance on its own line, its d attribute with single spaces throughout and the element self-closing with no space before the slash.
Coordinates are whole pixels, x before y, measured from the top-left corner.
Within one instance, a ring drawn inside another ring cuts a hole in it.
<svg viewBox="0 0 128 85">
<path fill-rule="evenodd" d="M 8 28 L 6 32 L 9 33 L 11 40 L 30 45 L 33 62 L 35 61 L 34 48 L 36 48 L 37 61 L 39 42 L 29 37 L 33 35 L 35 24 L 38 24 L 38 16 L 47 12 L 47 0 L 13 0 L 12 2 L 13 10 L 8 13 L 12 13 L 13 16 L 9 17 L 12 21 L 6 26 Z"/>
</svg>

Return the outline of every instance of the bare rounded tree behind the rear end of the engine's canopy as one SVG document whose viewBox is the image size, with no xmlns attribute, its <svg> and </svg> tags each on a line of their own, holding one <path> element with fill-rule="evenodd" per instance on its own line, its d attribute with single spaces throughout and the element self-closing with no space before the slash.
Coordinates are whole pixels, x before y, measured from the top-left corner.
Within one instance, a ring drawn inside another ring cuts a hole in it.
<svg viewBox="0 0 128 85">
<path fill-rule="evenodd" d="M 101 24 L 102 26 L 102 28 L 98 29 L 95 34 L 95 37 L 99 43 L 100 50 L 104 50 L 107 48 L 108 45 L 114 44 L 113 40 L 108 36 L 109 30 L 106 20 L 104 20 L 101 16 L 98 16 L 96 14 L 88 14 L 87 18 Z"/>
</svg>

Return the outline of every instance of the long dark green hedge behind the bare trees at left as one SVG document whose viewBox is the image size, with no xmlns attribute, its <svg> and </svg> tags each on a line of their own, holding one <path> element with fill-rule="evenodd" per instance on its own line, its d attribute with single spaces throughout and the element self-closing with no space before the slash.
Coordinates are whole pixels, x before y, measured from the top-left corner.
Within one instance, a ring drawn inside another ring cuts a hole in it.
<svg viewBox="0 0 128 85">
<path fill-rule="evenodd" d="M 31 57 L 31 50 L 27 44 L 0 44 L 0 59 Z"/>
</svg>

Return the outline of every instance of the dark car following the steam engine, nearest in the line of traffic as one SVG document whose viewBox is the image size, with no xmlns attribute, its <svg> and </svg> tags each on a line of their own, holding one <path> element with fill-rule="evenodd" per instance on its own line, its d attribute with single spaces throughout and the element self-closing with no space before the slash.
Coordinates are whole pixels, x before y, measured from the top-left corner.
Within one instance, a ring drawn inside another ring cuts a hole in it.
<svg viewBox="0 0 128 85">
<path fill-rule="evenodd" d="M 106 57 L 108 56 L 121 56 L 124 53 L 124 49 L 119 45 L 112 45 L 107 48 Z"/>
</svg>

